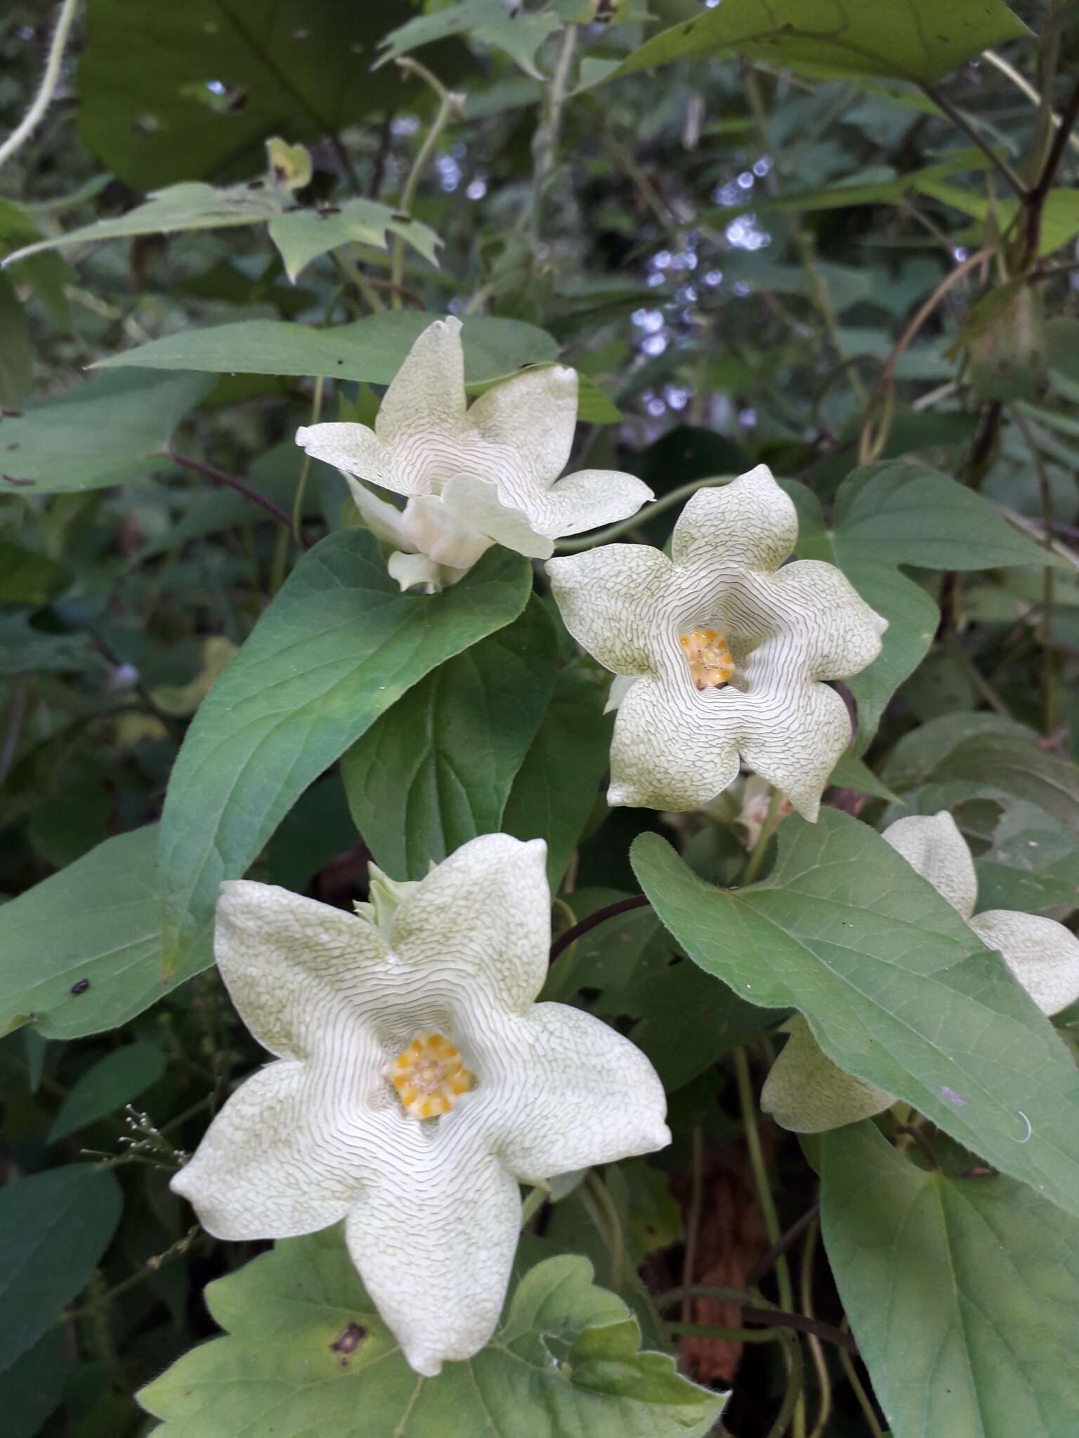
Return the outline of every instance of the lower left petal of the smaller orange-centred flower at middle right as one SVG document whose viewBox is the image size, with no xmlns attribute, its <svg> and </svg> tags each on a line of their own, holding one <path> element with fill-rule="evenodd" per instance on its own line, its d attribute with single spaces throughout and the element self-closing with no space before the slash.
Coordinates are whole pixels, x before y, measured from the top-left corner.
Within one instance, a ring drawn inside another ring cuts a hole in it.
<svg viewBox="0 0 1079 1438">
<path fill-rule="evenodd" d="M 571 627 L 573 630 L 573 627 Z M 607 802 L 688 810 L 714 800 L 738 777 L 744 696 L 698 696 L 646 674 L 622 696 L 610 749 Z"/>
</svg>

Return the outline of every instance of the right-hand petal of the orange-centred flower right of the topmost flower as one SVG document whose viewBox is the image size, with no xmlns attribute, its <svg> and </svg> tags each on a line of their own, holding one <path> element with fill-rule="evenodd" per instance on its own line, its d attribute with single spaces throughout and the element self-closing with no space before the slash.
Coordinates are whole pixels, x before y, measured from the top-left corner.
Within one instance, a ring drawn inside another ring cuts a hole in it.
<svg viewBox="0 0 1079 1438">
<path fill-rule="evenodd" d="M 807 679 L 859 674 L 880 653 L 888 620 L 834 564 L 798 559 L 784 565 L 768 590 L 777 627 L 793 636 Z"/>
</svg>

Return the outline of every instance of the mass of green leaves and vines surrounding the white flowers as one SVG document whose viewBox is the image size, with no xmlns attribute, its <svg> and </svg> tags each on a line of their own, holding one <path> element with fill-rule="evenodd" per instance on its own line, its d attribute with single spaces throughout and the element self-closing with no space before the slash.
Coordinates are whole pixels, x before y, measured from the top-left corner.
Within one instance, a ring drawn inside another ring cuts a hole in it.
<svg viewBox="0 0 1079 1438">
<path fill-rule="evenodd" d="M 876 831 L 950 808 L 980 909 L 1073 922 L 1076 13 L 86 0 L 0 168 L 10 1438 L 1075 1434 L 1079 1009 Z M 55 19 L 0 17 L 0 134 Z M 446 312 L 473 394 L 578 371 L 574 467 L 659 499 L 623 538 L 764 462 L 888 617 L 817 825 L 742 781 L 609 810 L 607 676 L 519 555 L 397 592 L 292 437 Z M 347 907 L 498 828 L 557 933 L 652 900 L 547 997 L 640 1044 L 675 1142 L 557 1186 L 495 1342 L 417 1380 L 337 1232 L 222 1244 L 167 1185 L 263 1060 L 217 881 Z M 898 1106 L 761 1119 L 793 1011 Z"/>
</svg>

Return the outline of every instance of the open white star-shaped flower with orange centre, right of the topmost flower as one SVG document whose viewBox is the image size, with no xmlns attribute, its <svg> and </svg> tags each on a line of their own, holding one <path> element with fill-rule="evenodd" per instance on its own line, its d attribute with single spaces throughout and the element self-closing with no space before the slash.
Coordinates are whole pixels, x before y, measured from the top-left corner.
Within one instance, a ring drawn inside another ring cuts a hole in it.
<svg viewBox="0 0 1079 1438">
<path fill-rule="evenodd" d="M 844 679 L 880 653 L 886 620 L 834 565 L 783 565 L 794 505 L 767 466 L 682 510 L 670 559 L 613 544 L 551 559 L 570 633 L 620 676 L 610 804 L 688 810 L 739 759 L 816 820 L 850 741 Z"/>
</svg>

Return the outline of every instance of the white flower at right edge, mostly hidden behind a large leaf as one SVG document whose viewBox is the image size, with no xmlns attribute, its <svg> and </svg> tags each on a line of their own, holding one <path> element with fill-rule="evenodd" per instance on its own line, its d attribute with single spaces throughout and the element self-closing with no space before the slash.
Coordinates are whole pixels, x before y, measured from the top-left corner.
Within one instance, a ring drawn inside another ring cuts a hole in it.
<svg viewBox="0 0 1079 1438">
<path fill-rule="evenodd" d="M 974 913 L 978 879 L 967 841 L 947 810 L 889 824 L 882 838 L 928 880 L 990 949 L 996 949 L 1043 1014 L 1079 999 L 1079 939 L 1055 919 L 1014 909 Z M 761 1091 L 761 1107 L 796 1133 L 820 1133 L 883 1113 L 891 1093 L 833 1064 L 801 1015 Z"/>
</svg>

